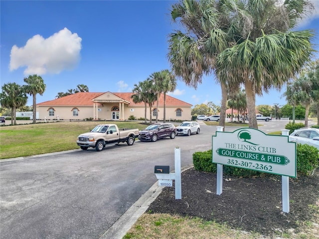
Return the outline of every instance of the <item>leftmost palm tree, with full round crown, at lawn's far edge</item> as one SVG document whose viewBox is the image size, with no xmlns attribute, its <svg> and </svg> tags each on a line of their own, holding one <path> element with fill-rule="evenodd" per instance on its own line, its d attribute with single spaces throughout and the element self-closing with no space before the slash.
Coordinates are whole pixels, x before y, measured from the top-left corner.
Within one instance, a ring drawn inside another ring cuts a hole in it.
<svg viewBox="0 0 319 239">
<path fill-rule="evenodd" d="M 11 124 L 16 124 L 16 109 L 25 106 L 28 97 L 24 88 L 16 83 L 7 83 L 2 86 L 0 94 L 1 106 L 11 109 Z M 35 118 L 35 117 L 33 117 Z"/>
</svg>

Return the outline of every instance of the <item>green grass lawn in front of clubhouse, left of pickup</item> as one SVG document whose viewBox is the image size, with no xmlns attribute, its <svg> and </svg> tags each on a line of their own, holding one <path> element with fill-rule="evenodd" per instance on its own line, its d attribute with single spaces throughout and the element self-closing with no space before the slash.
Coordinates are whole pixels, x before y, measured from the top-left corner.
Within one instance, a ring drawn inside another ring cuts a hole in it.
<svg viewBox="0 0 319 239">
<path fill-rule="evenodd" d="M 114 121 L 60 121 L 0 127 L 0 159 L 30 156 L 79 148 L 77 136 L 100 123 Z M 119 128 L 139 128 L 139 122 L 116 122 Z"/>
</svg>

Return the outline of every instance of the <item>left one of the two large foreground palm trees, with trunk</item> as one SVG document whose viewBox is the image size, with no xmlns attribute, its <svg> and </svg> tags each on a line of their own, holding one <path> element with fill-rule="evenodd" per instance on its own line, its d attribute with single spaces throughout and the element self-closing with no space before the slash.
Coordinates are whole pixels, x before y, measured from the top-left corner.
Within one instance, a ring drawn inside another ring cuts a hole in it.
<svg viewBox="0 0 319 239">
<path fill-rule="evenodd" d="M 195 89 L 201 84 L 203 75 L 210 75 L 216 69 L 218 54 L 233 44 L 229 28 L 231 18 L 226 14 L 224 3 L 228 1 L 182 0 L 172 5 L 172 20 L 178 20 L 186 32 L 178 30 L 169 35 L 167 56 L 174 75 Z M 222 93 L 219 125 L 224 126 L 228 91 L 238 89 L 239 84 L 229 82 L 223 75 L 216 81 Z"/>
</svg>

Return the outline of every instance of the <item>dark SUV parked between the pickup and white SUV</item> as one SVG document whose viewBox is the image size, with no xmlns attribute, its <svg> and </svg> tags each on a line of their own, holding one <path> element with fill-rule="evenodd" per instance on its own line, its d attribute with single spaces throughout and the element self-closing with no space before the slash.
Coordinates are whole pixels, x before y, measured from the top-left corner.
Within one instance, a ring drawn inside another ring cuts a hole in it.
<svg viewBox="0 0 319 239">
<path fill-rule="evenodd" d="M 155 142 L 160 138 L 170 137 L 175 138 L 176 127 L 172 123 L 153 123 L 146 129 L 143 129 L 139 133 L 139 139 L 141 141 Z"/>
</svg>

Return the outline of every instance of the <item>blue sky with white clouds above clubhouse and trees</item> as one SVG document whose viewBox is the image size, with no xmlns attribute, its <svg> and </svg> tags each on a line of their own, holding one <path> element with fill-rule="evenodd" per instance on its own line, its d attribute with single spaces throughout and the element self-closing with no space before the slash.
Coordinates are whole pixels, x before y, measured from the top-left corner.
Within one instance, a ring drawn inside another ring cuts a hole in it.
<svg viewBox="0 0 319 239">
<path fill-rule="evenodd" d="M 316 11 L 299 29 L 315 29 L 319 44 L 319 0 Z M 37 103 L 58 92 L 87 85 L 90 92 L 132 92 L 152 73 L 170 69 L 167 36 L 169 0 L 0 1 L 0 81 L 25 84 L 40 75 L 46 84 Z M 318 50 L 318 48 L 317 48 Z M 319 54 L 317 54 L 319 58 Z M 256 97 L 256 105 L 285 105 L 276 90 Z M 195 90 L 177 82 L 171 96 L 192 105 L 220 105 L 220 87 L 206 76 Z M 28 106 L 32 105 L 29 96 Z"/>
</svg>

